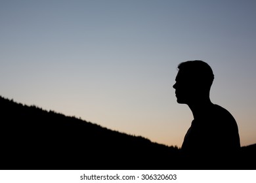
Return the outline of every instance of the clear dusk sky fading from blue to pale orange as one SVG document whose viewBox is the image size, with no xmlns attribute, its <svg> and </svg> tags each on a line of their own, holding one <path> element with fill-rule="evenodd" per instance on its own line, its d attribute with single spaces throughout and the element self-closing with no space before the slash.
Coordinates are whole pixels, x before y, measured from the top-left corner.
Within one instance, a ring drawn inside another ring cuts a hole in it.
<svg viewBox="0 0 256 183">
<path fill-rule="evenodd" d="M 0 1 L 0 95 L 181 146 L 193 120 L 172 88 L 202 59 L 213 103 L 256 143 L 256 1 Z"/>
</svg>

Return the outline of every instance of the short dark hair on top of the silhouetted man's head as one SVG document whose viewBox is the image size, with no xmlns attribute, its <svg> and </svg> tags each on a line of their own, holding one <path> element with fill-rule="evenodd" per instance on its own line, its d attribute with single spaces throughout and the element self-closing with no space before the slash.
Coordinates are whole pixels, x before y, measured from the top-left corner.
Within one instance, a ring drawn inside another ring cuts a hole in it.
<svg viewBox="0 0 256 183">
<path fill-rule="evenodd" d="M 211 67 L 202 60 L 185 61 L 178 65 L 179 71 L 186 73 L 186 76 L 195 82 L 211 87 L 214 75 Z"/>
</svg>

